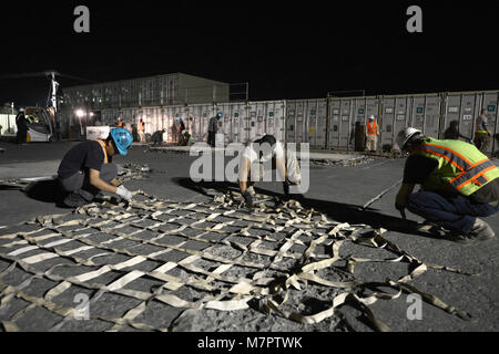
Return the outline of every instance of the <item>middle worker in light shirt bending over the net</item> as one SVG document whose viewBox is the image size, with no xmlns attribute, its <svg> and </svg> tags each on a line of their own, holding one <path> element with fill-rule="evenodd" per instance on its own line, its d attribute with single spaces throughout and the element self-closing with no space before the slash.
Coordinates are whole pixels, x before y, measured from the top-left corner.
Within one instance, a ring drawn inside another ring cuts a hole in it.
<svg viewBox="0 0 499 354">
<path fill-rule="evenodd" d="M 253 138 L 246 144 L 240 160 L 240 188 L 246 204 L 253 204 L 253 186 L 256 181 L 264 180 L 267 165 L 272 166 L 272 170 L 278 171 L 286 198 L 289 197 L 289 185 L 298 186 L 302 183 L 295 152 L 286 149 L 273 135 Z"/>
</svg>

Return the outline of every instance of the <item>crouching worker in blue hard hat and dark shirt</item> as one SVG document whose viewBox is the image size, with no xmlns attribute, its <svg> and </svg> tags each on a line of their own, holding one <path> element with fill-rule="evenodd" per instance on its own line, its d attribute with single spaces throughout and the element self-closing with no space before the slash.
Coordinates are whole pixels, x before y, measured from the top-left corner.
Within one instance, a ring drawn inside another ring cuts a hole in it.
<svg viewBox="0 0 499 354">
<path fill-rule="evenodd" d="M 112 128 L 104 140 L 89 140 L 72 147 L 59 166 L 60 186 L 68 194 L 64 205 L 78 208 L 92 202 L 99 191 L 132 199 L 132 192 L 120 185 L 114 155 L 126 155 L 132 146 L 132 134 L 123 128 Z"/>
</svg>

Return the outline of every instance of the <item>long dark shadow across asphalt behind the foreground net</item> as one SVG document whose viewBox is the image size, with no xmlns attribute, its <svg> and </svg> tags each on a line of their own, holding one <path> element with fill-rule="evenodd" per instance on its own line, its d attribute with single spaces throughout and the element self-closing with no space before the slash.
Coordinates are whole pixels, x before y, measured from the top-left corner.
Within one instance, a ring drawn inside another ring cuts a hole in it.
<svg viewBox="0 0 499 354">
<path fill-rule="evenodd" d="M 210 196 L 207 189 L 215 189 L 217 192 L 225 194 L 230 190 L 238 190 L 238 185 L 233 183 L 194 183 L 190 178 L 174 178 L 173 183 L 176 185 L 197 191 L 205 196 Z M 283 195 L 274 192 L 266 189 L 261 189 L 255 187 L 255 191 L 258 194 L 264 194 L 272 197 L 282 198 Z M 419 223 L 413 220 L 404 220 L 401 218 L 388 216 L 377 211 L 376 209 L 363 209 L 360 206 L 335 202 L 328 200 L 310 199 L 310 198 L 299 198 L 297 199 L 302 206 L 307 209 L 315 209 L 335 221 L 348 222 L 350 225 L 365 223 L 375 229 L 384 228 L 388 231 L 410 233 L 416 236 L 421 236 L 430 239 L 444 239 L 441 236 L 436 236 L 430 232 L 425 232 L 417 230 Z"/>
</svg>

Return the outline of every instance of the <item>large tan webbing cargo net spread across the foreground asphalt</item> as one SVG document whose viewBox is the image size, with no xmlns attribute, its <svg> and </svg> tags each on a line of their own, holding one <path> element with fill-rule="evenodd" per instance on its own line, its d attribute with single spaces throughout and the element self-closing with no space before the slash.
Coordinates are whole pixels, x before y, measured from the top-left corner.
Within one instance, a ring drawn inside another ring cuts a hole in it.
<svg viewBox="0 0 499 354">
<path fill-rule="evenodd" d="M 71 330 L 84 309 L 88 321 L 78 321 L 79 330 L 172 331 L 193 311 L 234 322 L 245 310 L 304 331 L 335 321 L 335 330 L 352 330 L 340 311 L 352 305 L 374 330 L 389 331 L 369 305 L 403 293 L 471 320 L 410 284 L 429 269 L 460 271 L 416 259 L 383 229 L 335 222 L 294 200 L 249 210 L 240 197 L 190 204 L 138 191 L 130 205 L 109 198 L 0 227 L 3 330 Z M 386 266 L 386 278 L 365 279 L 356 271 L 363 264 Z"/>
</svg>

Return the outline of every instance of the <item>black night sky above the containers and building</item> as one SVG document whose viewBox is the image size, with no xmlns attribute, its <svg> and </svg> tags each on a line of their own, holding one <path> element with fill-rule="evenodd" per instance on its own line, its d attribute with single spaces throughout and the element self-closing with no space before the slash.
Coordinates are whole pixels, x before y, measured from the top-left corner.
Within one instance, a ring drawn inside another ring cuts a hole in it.
<svg viewBox="0 0 499 354">
<path fill-rule="evenodd" d="M 88 34 L 73 31 L 79 4 Z M 422 33 L 406 30 L 411 4 Z M 497 1 L 17 1 L 0 17 L 0 76 L 183 72 L 248 82 L 249 100 L 499 90 Z M 42 104 L 48 92 L 43 77 L 0 79 L 0 104 Z"/>
</svg>

